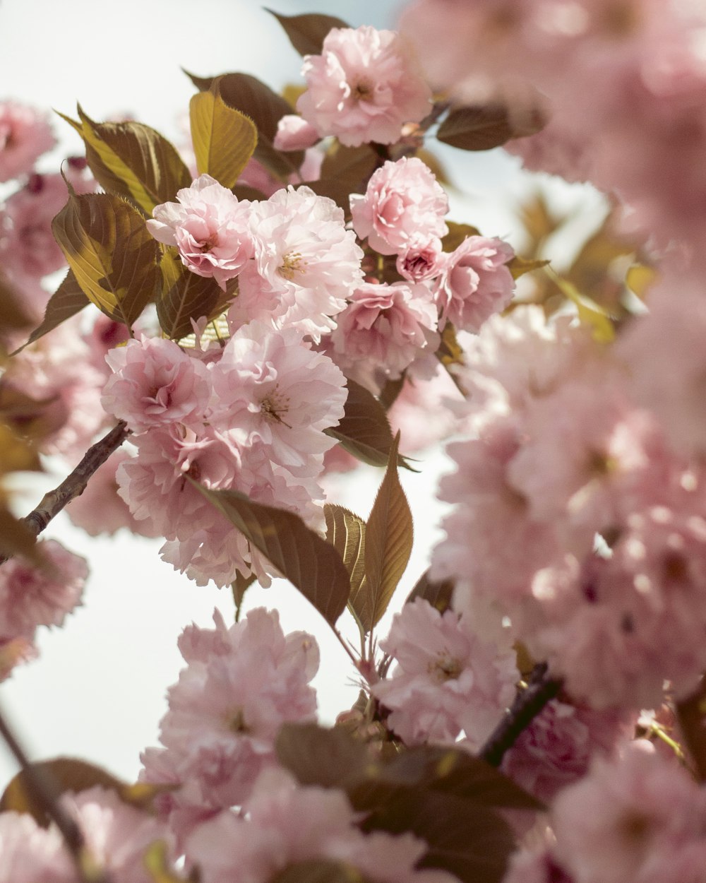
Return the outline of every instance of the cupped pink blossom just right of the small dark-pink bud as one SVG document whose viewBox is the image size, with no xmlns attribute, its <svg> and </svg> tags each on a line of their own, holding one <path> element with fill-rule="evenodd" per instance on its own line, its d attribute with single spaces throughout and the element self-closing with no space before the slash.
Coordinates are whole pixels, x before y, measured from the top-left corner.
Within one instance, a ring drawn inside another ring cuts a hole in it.
<svg viewBox="0 0 706 883">
<path fill-rule="evenodd" d="M 510 303 L 514 280 L 505 264 L 514 252 L 507 242 L 469 236 L 448 256 L 436 288 L 441 327 L 477 332 Z"/>
</svg>

